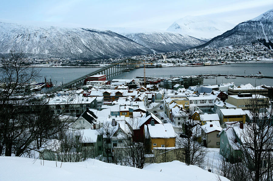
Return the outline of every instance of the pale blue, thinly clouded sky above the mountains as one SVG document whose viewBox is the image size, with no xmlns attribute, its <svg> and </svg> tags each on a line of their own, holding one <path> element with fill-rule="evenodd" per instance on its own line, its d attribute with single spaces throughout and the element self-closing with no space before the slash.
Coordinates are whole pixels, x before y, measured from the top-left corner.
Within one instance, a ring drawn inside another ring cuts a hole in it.
<svg viewBox="0 0 273 181">
<path fill-rule="evenodd" d="M 166 30 L 187 15 L 236 25 L 272 8 L 272 0 L 1 0 L 0 19 Z"/>
</svg>

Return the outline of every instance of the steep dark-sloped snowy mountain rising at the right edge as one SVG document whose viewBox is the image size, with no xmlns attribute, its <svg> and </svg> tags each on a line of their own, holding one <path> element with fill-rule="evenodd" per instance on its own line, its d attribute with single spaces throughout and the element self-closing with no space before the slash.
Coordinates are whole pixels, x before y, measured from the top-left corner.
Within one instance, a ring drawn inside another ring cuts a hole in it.
<svg viewBox="0 0 273 181">
<path fill-rule="evenodd" d="M 214 37 L 199 47 L 226 47 L 230 45 L 249 45 L 257 43 L 258 39 L 266 42 L 273 40 L 273 9 L 266 11 L 248 21 L 244 21 L 232 30 Z M 198 48 L 199 48 L 198 47 Z M 273 48 L 273 47 L 272 47 Z"/>
</svg>

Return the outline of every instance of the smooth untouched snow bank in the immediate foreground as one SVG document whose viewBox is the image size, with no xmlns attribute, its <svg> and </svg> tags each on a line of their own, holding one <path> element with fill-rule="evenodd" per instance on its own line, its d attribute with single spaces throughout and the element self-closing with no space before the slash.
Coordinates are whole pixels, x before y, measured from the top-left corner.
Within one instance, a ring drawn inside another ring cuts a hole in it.
<svg viewBox="0 0 273 181">
<path fill-rule="evenodd" d="M 57 164 L 57 167 L 56 167 Z M 34 160 L 22 157 L 0 157 L 0 180 L 5 181 L 89 181 L 89 180 L 183 180 L 216 181 L 217 176 L 197 166 L 173 161 L 151 164 L 140 170 L 89 159 L 78 163 Z M 228 181 L 221 177 L 222 181 Z"/>
</svg>

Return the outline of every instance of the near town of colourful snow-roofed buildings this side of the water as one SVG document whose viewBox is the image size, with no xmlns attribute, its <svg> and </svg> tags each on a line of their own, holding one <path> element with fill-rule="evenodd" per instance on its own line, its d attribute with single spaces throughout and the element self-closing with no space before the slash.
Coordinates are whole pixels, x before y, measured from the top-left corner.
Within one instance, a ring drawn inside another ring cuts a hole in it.
<svg viewBox="0 0 273 181">
<path fill-rule="evenodd" d="M 266 113 L 273 87 L 235 86 L 233 82 L 199 86 L 203 78 L 190 76 L 177 81 L 159 79 L 143 85 L 138 79 L 110 81 L 99 74 L 87 77 L 85 85 L 74 89 L 35 95 L 46 100 L 52 114 L 70 120 L 69 132 L 79 139 L 80 152 L 86 152 L 79 157 L 75 153 L 64 156 L 61 141 L 54 139 L 39 148 L 39 158 L 76 161 L 92 157 L 126 165 L 131 147 L 141 143 L 135 146 L 143 146 L 143 164 L 185 162 L 187 137 L 194 137 L 204 150 L 219 148 L 226 158 L 242 154 L 240 135 L 248 133 L 255 119 L 253 104 L 257 103 L 261 114 Z M 22 101 L 24 96 L 31 95 L 14 95 L 12 100 Z M 272 119 L 268 121 L 273 124 Z"/>
</svg>

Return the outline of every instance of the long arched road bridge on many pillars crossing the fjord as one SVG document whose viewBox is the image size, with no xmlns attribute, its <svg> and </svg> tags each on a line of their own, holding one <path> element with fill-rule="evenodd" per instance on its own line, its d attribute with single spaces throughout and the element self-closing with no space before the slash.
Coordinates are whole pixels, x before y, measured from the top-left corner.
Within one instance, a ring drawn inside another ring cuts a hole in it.
<svg viewBox="0 0 273 181">
<path fill-rule="evenodd" d="M 86 79 L 89 76 L 93 76 L 97 74 L 105 74 L 106 79 L 108 79 L 108 78 L 120 75 L 124 72 L 133 70 L 136 67 L 138 67 L 140 64 L 143 64 L 141 60 L 126 58 L 126 59 L 120 60 L 119 62 L 113 63 L 109 66 L 98 69 L 94 72 L 81 76 L 70 82 L 67 82 L 66 84 L 63 84 L 62 86 L 56 87 L 55 89 L 52 89 L 52 92 L 61 91 L 62 89 L 69 89 L 69 88 L 73 88 L 77 86 L 82 86 L 84 83 L 84 79 Z"/>
</svg>

